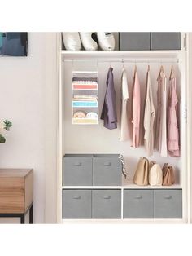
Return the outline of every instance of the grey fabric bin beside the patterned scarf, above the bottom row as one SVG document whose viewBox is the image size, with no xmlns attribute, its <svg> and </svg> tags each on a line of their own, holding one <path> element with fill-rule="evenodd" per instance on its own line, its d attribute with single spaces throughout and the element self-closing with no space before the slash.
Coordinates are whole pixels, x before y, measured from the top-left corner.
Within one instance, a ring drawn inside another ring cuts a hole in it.
<svg viewBox="0 0 192 256">
<path fill-rule="evenodd" d="M 122 183 L 122 164 L 118 154 L 97 154 L 93 159 L 93 185 L 119 186 Z"/>
</svg>

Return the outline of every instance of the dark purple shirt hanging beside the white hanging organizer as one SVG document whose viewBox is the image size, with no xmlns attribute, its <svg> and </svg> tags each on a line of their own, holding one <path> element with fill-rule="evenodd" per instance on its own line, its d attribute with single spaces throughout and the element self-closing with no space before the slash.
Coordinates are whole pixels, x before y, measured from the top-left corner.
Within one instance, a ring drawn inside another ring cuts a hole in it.
<svg viewBox="0 0 192 256">
<path fill-rule="evenodd" d="M 113 81 L 113 68 L 109 68 L 107 73 L 107 90 L 105 94 L 105 99 L 103 103 L 101 119 L 104 120 L 104 127 L 107 129 L 117 128 L 117 117 L 116 117 L 116 91 L 114 88 Z"/>
</svg>

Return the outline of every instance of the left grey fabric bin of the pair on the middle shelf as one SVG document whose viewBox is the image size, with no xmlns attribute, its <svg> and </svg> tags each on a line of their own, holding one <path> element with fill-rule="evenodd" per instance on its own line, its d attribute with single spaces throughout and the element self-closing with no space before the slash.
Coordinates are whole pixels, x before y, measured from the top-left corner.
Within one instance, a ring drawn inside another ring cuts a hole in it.
<svg viewBox="0 0 192 256">
<path fill-rule="evenodd" d="M 91 154 L 66 154 L 63 157 L 63 185 L 91 186 L 92 160 Z"/>
</svg>

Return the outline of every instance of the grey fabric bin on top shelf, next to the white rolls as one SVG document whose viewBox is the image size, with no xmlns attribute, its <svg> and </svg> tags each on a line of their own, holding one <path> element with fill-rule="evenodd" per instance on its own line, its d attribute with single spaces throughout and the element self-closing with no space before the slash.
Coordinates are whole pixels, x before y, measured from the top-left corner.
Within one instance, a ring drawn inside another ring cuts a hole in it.
<svg viewBox="0 0 192 256">
<path fill-rule="evenodd" d="M 121 51 L 150 50 L 150 33 L 120 32 Z"/>
</svg>

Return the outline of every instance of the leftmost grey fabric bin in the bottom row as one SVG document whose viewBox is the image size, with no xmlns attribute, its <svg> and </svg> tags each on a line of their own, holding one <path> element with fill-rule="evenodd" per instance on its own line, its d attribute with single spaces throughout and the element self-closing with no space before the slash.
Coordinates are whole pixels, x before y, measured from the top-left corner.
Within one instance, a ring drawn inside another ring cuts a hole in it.
<svg viewBox="0 0 192 256">
<path fill-rule="evenodd" d="M 91 218 L 91 190 L 63 190 L 62 218 Z"/>
</svg>

